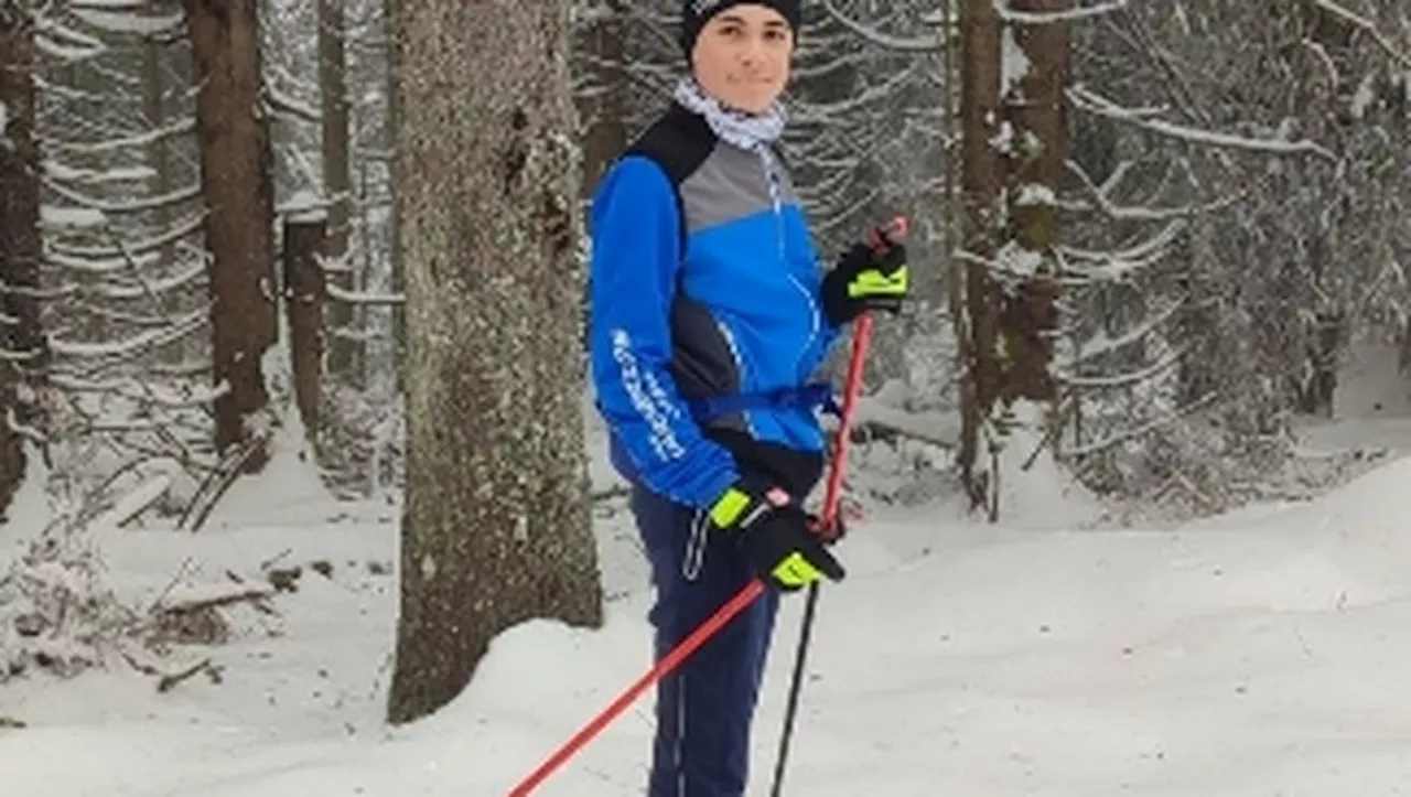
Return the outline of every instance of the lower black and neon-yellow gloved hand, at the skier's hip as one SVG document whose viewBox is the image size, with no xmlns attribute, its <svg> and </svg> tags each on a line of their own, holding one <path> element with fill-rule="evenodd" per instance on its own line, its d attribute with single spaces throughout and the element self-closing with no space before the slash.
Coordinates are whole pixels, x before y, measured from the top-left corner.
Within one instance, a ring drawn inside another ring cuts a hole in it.
<svg viewBox="0 0 1411 797">
<path fill-rule="evenodd" d="M 711 523 L 734 536 L 755 573 L 793 592 L 824 577 L 841 581 L 842 566 L 809 530 L 809 515 L 779 487 L 742 478 L 710 509 Z"/>
</svg>

